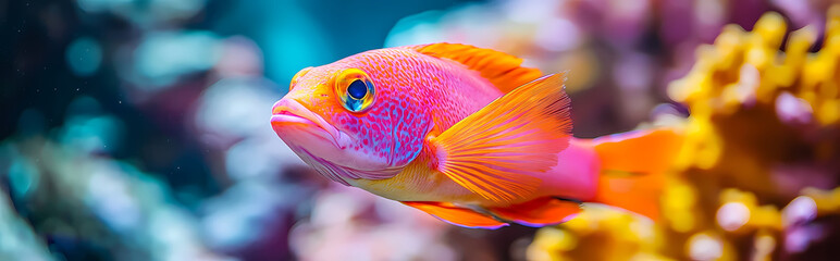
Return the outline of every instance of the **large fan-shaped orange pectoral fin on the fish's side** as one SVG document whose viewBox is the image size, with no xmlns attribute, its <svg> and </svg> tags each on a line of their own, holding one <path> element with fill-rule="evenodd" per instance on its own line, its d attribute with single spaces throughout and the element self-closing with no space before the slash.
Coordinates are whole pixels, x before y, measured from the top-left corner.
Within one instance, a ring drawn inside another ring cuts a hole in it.
<svg viewBox="0 0 840 261">
<path fill-rule="evenodd" d="M 522 85 L 432 138 L 437 171 L 496 202 L 535 192 L 571 133 L 563 75 Z"/>
</svg>

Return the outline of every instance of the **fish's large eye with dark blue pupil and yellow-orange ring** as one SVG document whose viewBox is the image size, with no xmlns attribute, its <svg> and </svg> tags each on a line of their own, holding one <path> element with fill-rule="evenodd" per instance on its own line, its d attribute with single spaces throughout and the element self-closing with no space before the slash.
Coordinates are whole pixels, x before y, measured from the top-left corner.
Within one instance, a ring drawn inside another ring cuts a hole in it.
<svg viewBox="0 0 840 261">
<path fill-rule="evenodd" d="M 335 92 L 345 109 L 362 112 L 373 104 L 375 89 L 367 73 L 358 69 L 347 69 L 336 77 Z"/>
</svg>

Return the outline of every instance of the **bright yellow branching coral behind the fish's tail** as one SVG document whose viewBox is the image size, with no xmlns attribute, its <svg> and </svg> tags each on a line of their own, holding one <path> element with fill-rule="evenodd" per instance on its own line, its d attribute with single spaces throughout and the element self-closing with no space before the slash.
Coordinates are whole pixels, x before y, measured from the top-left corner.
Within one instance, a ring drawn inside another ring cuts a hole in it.
<svg viewBox="0 0 840 261">
<path fill-rule="evenodd" d="M 752 32 L 726 26 L 668 89 L 691 116 L 663 219 L 638 226 L 637 215 L 589 209 L 541 229 L 529 258 L 770 260 L 786 251 L 791 227 L 840 215 L 840 188 L 812 188 L 836 182 L 840 167 L 840 7 L 826 28 L 822 50 L 810 53 L 814 27 L 792 32 L 780 51 L 788 28 L 776 13 Z"/>
</svg>

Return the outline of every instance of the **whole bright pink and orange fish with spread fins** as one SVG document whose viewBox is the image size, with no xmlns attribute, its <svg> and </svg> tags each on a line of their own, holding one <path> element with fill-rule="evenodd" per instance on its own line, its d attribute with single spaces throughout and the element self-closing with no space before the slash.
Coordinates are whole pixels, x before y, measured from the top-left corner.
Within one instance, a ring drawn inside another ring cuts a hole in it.
<svg viewBox="0 0 840 261">
<path fill-rule="evenodd" d="M 567 73 L 461 44 L 370 50 L 306 67 L 271 126 L 329 179 L 444 222 L 567 222 L 584 204 L 657 219 L 681 130 L 572 136 Z"/>
</svg>

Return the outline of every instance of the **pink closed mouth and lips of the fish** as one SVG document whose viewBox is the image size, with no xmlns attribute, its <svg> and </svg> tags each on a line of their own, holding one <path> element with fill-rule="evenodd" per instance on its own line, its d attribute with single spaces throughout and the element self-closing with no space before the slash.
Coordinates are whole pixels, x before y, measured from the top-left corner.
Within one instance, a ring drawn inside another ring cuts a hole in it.
<svg viewBox="0 0 840 261">
<path fill-rule="evenodd" d="M 274 103 L 271 109 L 271 127 L 277 134 L 287 128 L 301 129 L 331 141 L 338 149 L 344 149 L 349 138 L 294 99 L 281 99 Z"/>
</svg>

